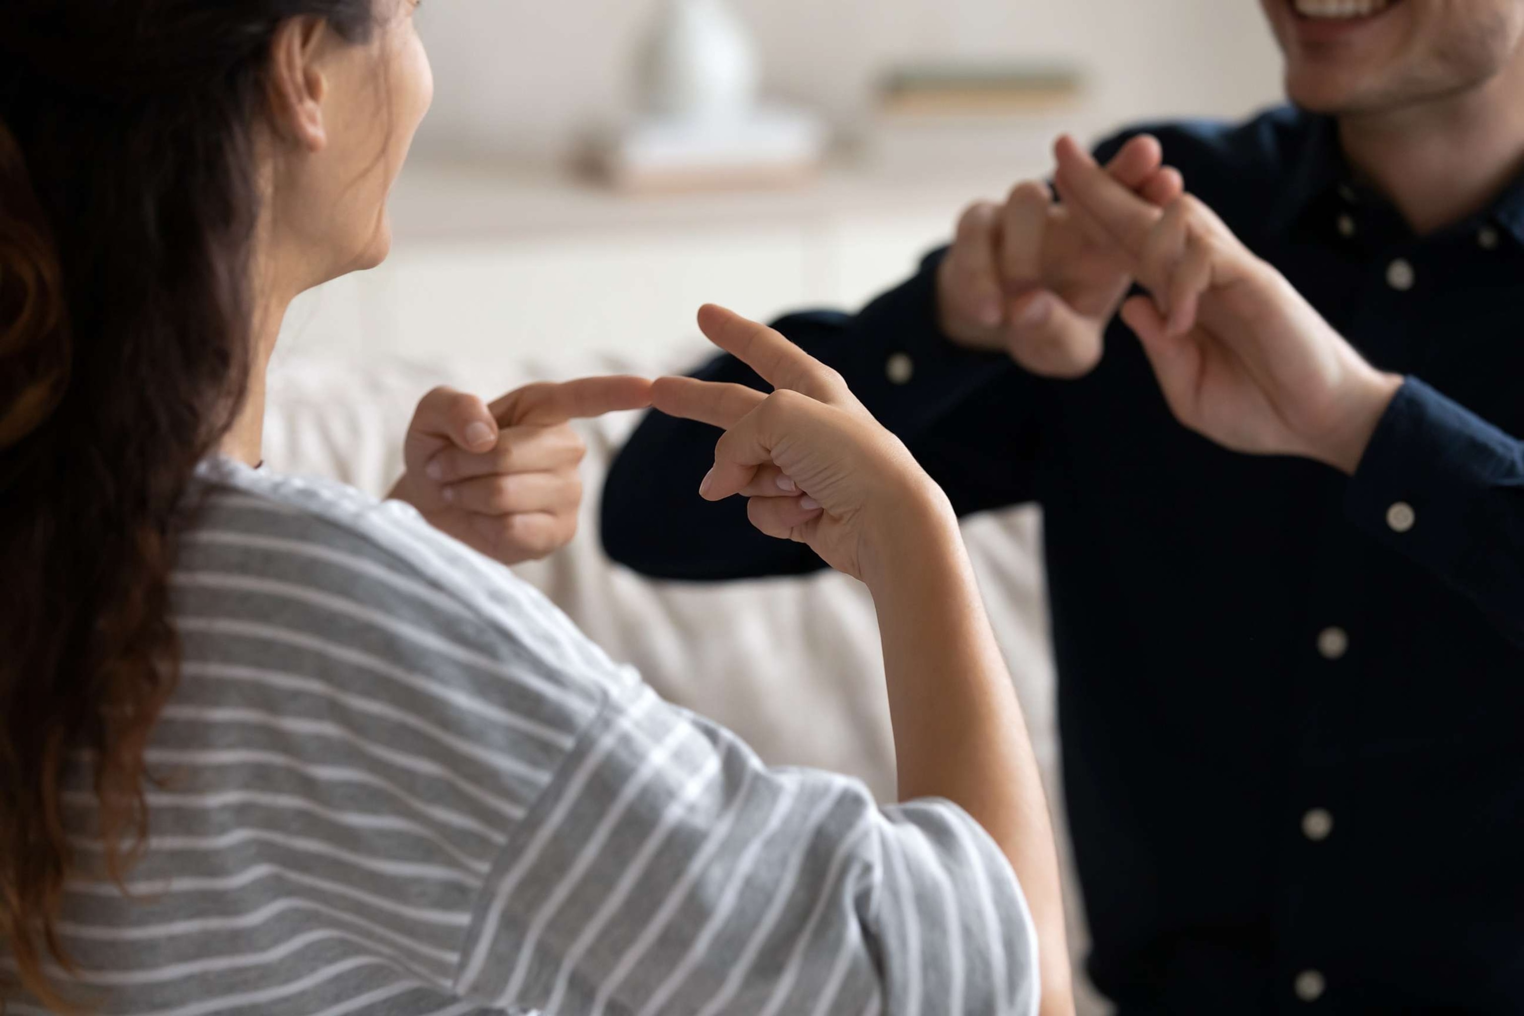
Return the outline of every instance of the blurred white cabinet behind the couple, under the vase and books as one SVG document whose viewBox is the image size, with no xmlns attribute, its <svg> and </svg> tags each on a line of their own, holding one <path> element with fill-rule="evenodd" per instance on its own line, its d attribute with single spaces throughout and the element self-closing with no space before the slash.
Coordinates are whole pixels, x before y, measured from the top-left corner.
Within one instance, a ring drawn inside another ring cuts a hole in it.
<svg viewBox="0 0 1524 1016">
<path fill-rule="evenodd" d="M 553 168 L 421 163 L 392 200 L 392 259 L 303 297 L 282 355 L 678 366 L 706 349 L 707 302 L 764 320 L 861 306 L 945 244 L 963 206 L 1035 172 L 1017 161 L 838 165 L 792 190 L 639 198 Z"/>
</svg>

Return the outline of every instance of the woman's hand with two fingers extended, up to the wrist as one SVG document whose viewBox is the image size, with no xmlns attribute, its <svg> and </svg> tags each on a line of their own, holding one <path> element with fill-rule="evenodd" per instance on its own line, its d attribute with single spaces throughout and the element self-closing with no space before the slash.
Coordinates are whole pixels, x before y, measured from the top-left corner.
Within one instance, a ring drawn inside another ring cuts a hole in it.
<svg viewBox="0 0 1524 1016">
<path fill-rule="evenodd" d="M 698 312 L 712 343 L 773 385 L 661 378 L 652 405 L 719 427 L 709 501 L 748 498 L 747 516 L 768 536 L 808 544 L 837 571 L 870 586 L 884 556 L 927 527 L 956 527 L 940 487 L 884 430 L 846 382 L 779 332 L 718 306 Z"/>
</svg>

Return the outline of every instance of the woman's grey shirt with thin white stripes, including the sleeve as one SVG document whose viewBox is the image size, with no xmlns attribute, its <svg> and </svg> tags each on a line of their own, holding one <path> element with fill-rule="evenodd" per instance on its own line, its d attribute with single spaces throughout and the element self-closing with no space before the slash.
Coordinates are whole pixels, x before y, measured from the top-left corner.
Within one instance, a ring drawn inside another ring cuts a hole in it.
<svg viewBox="0 0 1524 1016">
<path fill-rule="evenodd" d="M 1021 890 L 956 806 L 764 766 L 407 506 L 226 462 L 200 487 L 126 897 L 88 780 L 66 795 L 72 1001 L 1036 1011 Z"/>
</svg>

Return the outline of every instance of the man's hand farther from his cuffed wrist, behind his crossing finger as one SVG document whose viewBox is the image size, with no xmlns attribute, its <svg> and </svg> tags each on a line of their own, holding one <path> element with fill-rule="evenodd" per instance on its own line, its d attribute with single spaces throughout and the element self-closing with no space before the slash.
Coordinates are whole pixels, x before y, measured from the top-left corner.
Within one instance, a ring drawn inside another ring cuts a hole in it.
<svg viewBox="0 0 1524 1016">
<path fill-rule="evenodd" d="M 1131 139 L 1106 168 L 1164 206 L 1180 174 L 1161 166 L 1157 139 Z M 971 206 L 937 274 L 942 331 L 969 349 L 1004 350 L 1049 378 L 1081 378 L 1100 363 L 1102 337 L 1132 285 L 1126 260 L 1073 221 L 1041 181 L 1018 184 L 1004 206 Z"/>
</svg>

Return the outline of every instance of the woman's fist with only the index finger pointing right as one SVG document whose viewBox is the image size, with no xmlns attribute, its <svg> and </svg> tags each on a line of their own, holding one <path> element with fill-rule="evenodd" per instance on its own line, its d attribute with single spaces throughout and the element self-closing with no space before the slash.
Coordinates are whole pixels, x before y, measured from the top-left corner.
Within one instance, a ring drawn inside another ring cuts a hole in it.
<svg viewBox="0 0 1524 1016">
<path fill-rule="evenodd" d="M 576 536 L 582 506 L 587 445 L 570 422 L 649 405 L 651 382 L 626 376 L 532 384 L 491 405 L 434 388 L 407 430 L 392 497 L 506 565 L 546 558 Z"/>
</svg>

